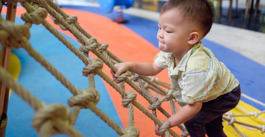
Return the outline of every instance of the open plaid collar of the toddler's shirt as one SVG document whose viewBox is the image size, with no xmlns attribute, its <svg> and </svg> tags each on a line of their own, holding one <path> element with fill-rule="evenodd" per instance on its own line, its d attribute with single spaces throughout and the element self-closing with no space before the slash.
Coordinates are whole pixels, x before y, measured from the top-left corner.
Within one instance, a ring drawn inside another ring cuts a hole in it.
<svg viewBox="0 0 265 137">
<path fill-rule="evenodd" d="M 178 75 L 179 71 L 185 72 L 186 70 L 186 64 L 188 62 L 189 57 L 191 56 L 192 53 L 194 53 L 199 47 L 203 47 L 202 42 L 198 42 L 195 44 L 180 60 L 179 64 L 173 68 L 173 71 L 171 71 L 170 75 Z M 174 55 L 171 53 L 167 56 L 168 60 L 174 64 Z M 173 65 L 174 66 L 174 65 Z M 169 68 L 170 69 L 170 68 Z"/>
</svg>

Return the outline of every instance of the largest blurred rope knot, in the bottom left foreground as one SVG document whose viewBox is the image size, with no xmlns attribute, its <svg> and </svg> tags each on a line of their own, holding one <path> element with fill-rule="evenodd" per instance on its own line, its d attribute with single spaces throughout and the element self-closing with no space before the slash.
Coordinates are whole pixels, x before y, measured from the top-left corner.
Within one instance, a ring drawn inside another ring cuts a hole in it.
<svg viewBox="0 0 265 137">
<path fill-rule="evenodd" d="M 37 110 L 32 126 L 42 133 L 64 133 L 63 125 L 69 124 L 70 110 L 61 104 L 46 105 Z"/>
</svg>

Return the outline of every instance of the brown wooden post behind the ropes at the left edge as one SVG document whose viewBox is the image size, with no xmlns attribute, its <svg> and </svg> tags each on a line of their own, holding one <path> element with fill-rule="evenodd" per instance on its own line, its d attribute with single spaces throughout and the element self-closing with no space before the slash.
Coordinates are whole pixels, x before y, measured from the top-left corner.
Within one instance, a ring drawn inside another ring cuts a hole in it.
<svg viewBox="0 0 265 137">
<path fill-rule="evenodd" d="M 17 7 L 17 2 L 7 4 L 6 20 L 15 22 L 16 7 Z M 8 47 L 2 48 L 1 66 L 7 71 L 9 66 L 10 52 L 11 52 L 10 48 Z M 8 92 L 8 94 L 6 94 L 6 92 Z M 9 88 L 7 88 L 5 84 L 0 83 L 0 118 L 2 117 L 4 105 L 6 105 L 5 108 L 7 108 L 7 104 L 4 104 L 6 96 L 7 97 L 9 96 Z"/>
</svg>

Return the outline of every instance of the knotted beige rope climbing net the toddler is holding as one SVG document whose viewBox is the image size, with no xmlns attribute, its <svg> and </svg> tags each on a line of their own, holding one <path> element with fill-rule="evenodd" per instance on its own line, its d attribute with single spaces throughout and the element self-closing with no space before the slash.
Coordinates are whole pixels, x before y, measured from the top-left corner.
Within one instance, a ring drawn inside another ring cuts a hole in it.
<svg viewBox="0 0 265 137">
<path fill-rule="evenodd" d="M 139 136 L 139 130 L 134 126 L 133 106 L 135 106 L 148 118 L 152 119 L 155 125 L 158 124 L 161 134 L 178 137 L 178 135 L 169 128 L 170 123 L 166 121 L 160 121 L 156 115 L 156 110 L 158 110 L 167 118 L 170 117 L 170 114 L 161 107 L 161 103 L 164 101 L 169 101 L 172 114 L 178 112 L 178 109 L 175 106 L 176 100 L 173 91 L 171 90 L 170 84 L 161 82 L 159 79 L 154 77 L 146 77 L 131 72 L 125 72 L 121 74 L 114 82 L 102 72 L 103 63 L 106 64 L 111 70 L 116 72 L 117 69 L 113 64 L 121 63 L 122 60 L 107 50 L 108 44 L 98 42 L 96 38 L 87 33 L 77 22 L 76 16 L 67 15 L 54 2 L 52 2 L 52 0 L 4 0 L 4 2 L 20 2 L 21 5 L 27 10 L 27 13 L 21 15 L 21 19 L 25 21 L 24 25 L 15 25 L 14 23 L 5 21 L 2 17 L 0 17 L 1 44 L 3 46 L 15 49 L 24 48 L 30 56 L 32 56 L 37 62 L 45 67 L 73 94 L 73 97 L 68 99 L 68 105 L 73 108 L 72 110 L 70 110 L 68 106 L 62 104 L 47 105 L 35 98 L 29 91 L 16 82 L 10 74 L 0 67 L 0 81 L 3 84 L 6 84 L 7 87 L 12 88 L 17 95 L 19 95 L 36 111 L 36 114 L 33 117 L 32 125 L 36 131 L 39 132 L 40 136 L 50 136 L 54 134 L 67 134 L 74 137 L 83 136 L 73 127 L 76 123 L 80 110 L 86 108 L 91 109 L 120 136 Z M 3 3 L 0 1 L 0 7 L 2 7 L 2 5 Z M 63 37 L 63 35 L 61 35 L 54 27 L 51 26 L 51 24 L 45 20 L 48 13 L 55 24 L 59 25 L 61 29 L 69 31 L 74 35 L 74 37 L 76 37 L 78 42 L 82 44 L 79 49 L 74 47 L 66 38 Z M 32 27 L 32 24 L 42 24 L 78 58 L 82 60 L 86 66 L 82 71 L 83 76 L 86 76 L 89 79 L 88 88 L 79 90 L 41 54 L 32 48 L 28 41 L 30 38 L 29 29 Z M 89 59 L 89 52 L 95 54 L 98 58 Z M 100 97 L 98 91 L 95 89 L 95 75 L 99 75 L 119 94 L 121 94 L 122 105 L 123 107 L 128 108 L 129 111 L 129 123 L 126 129 L 115 123 L 111 118 L 109 118 L 108 115 L 106 115 L 96 106 Z M 125 91 L 125 83 L 129 84 L 135 91 Z M 120 86 L 118 84 L 120 84 Z M 166 88 L 166 90 L 164 90 L 162 87 Z M 156 97 L 151 94 L 151 90 L 154 92 Z M 138 92 L 145 100 L 147 100 L 147 102 L 150 104 L 148 109 L 152 110 L 152 113 L 150 113 L 136 101 L 135 92 Z M 159 94 L 163 97 L 161 98 Z M 253 112 L 245 116 L 254 116 L 258 118 L 258 115 L 262 113 L 264 113 L 264 111 L 261 113 Z M 253 126 L 238 122 L 235 120 L 235 116 L 237 115 L 227 113 L 224 115 L 223 119 L 229 121 L 228 123 L 232 125 L 232 127 L 241 136 L 245 135 L 238 131 L 233 123 L 241 124 L 248 129 L 261 130 L 261 133 L 264 133 L 264 125 Z M 188 132 L 184 125 L 178 125 L 178 128 L 182 130 L 182 133 L 180 133 L 181 136 L 188 136 Z"/>
</svg>

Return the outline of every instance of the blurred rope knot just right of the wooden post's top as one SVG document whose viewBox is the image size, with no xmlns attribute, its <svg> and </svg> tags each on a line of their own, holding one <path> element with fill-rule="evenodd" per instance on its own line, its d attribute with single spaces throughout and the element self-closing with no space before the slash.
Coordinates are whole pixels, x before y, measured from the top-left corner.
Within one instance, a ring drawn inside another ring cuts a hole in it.
<svg viewBox="0 0 265 137">
<path fill-rule="evenodd" d="M 21 15 L 21 19 L 23 21 L 33 23 L 33 24 L 41 24 L 43 20 L 47 17 L 48 13 L 46 9 L 40 8 L 32 13 L 24 13 Z"/>
</svg>

